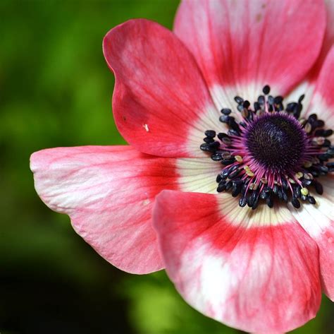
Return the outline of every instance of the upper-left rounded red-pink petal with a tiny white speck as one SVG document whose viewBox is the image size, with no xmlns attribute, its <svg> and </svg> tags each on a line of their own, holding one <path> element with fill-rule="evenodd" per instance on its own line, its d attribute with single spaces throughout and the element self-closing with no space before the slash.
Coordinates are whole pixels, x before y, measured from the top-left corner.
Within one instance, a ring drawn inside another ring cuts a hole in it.
<svg viewBox="0 0 334 334">
<path fill-rule="evenodd" d="M 203 133 L 219 112 L 194 57 L 175 35 L 149 20 L 110 30 L 104 56 L 116 78 L 113 114 L 126 141 L 144 153 L 203 156 Z"/>
</svg>

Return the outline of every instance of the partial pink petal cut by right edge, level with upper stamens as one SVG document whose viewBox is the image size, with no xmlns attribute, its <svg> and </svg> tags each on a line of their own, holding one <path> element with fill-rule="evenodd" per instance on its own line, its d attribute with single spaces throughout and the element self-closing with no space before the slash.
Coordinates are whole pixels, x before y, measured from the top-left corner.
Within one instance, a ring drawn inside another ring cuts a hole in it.
<svg viewBox="0 0 334 334">
<path fill-rule="evenodd" d="M 326 122 L 326 127 L 334 129 L 334 46 L 328 52 L 323 67 L 316 81 L 316 88 L 312 96 L 306 116 L 317 114 Z"/>
</svg>

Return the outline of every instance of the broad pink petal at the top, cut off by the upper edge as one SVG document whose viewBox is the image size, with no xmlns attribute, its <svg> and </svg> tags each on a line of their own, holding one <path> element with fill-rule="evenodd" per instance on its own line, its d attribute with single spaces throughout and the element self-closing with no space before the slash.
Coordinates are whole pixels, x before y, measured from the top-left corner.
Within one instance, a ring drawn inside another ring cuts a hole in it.
<svg viewBox="0 0 334 334">
<path fill-rule="evenodd" d="M 254 100 L 267 83 L 289 92 L 316 61 L 325 25 L 321 0 L 184 0 L 174 31 L 220 108 L 235 95 Z"/>
</svg>

